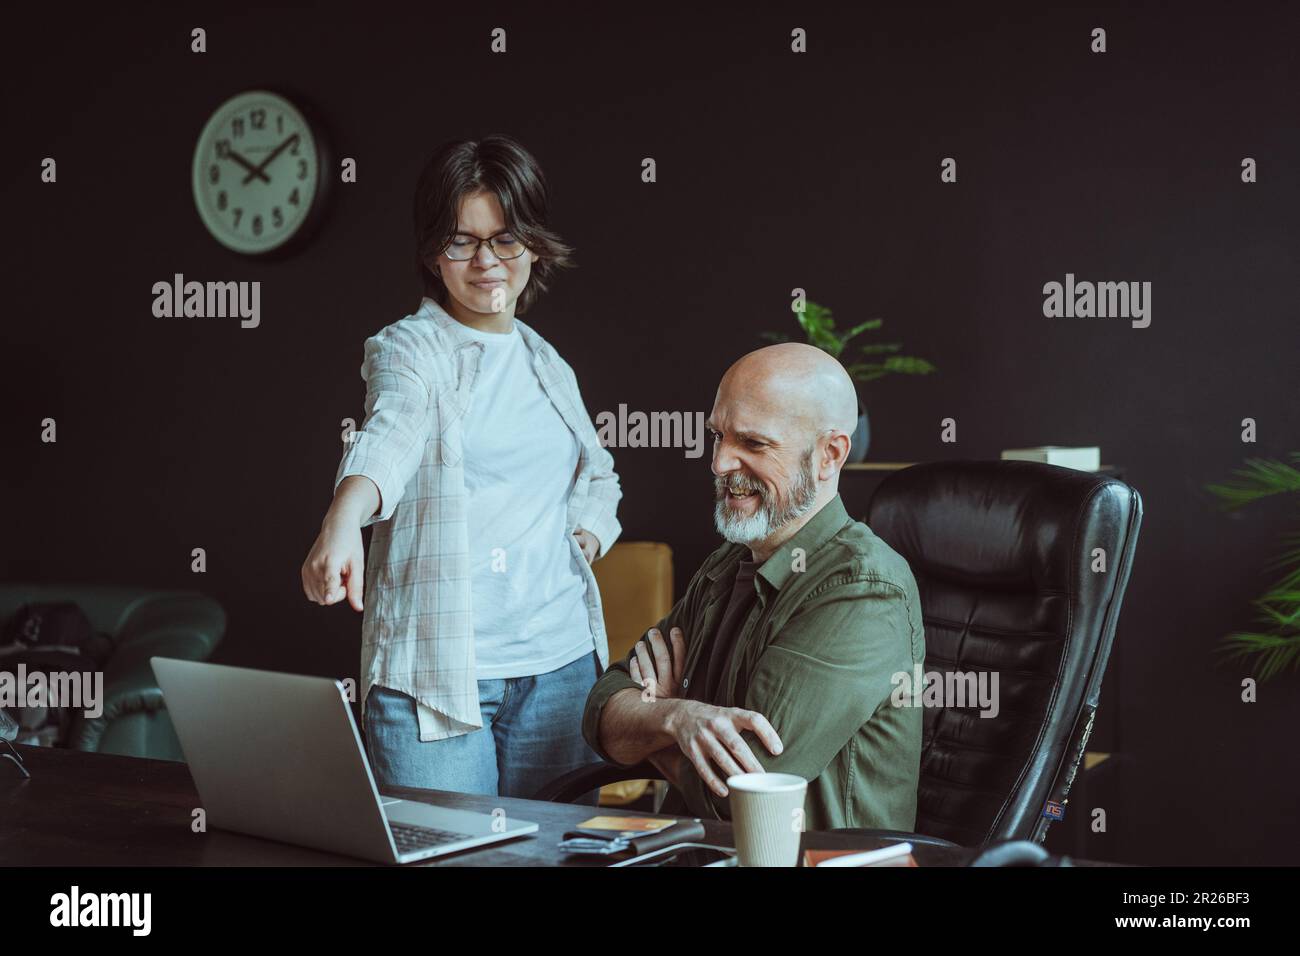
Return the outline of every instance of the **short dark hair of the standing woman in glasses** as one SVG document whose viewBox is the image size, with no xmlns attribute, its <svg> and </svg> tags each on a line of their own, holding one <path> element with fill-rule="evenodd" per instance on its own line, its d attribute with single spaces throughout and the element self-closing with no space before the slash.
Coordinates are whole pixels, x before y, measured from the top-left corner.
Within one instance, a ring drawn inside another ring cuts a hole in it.
<svg viewBox="0 0 1300 956">
<path fill-rule="evenodd" d="M 450 293 L 429 261 L 442 254 L 456 233 L 460 203 L 478 191 L 500 203 L 506 229 L 537 254 L 528 285 L 519 295 L 516 313 L 524 313 L 546 291 L 550 277 L 572 265 L 573 250 L 560 242 L 546 222 L 550 194 L 542 168 L 523 146 L 494 133 L 439 146 L 420 173 L 415 187 L 416 271 L 425 295 L 443 308 Z"/>
</svg>

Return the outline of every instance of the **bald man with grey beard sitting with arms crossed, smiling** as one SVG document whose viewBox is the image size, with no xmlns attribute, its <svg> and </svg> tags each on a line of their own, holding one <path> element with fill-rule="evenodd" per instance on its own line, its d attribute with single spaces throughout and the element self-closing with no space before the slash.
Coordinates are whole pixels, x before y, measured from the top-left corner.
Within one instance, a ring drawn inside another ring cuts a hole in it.
<svg viewBox="0 0 1300 956">
<path fill-rule="evenodd" d="M 651 761 L 662 810 L 729 819 L 727 778 L 809 780 L 805 830 L 911 830 L 922 715 L 892 702 L 924 663 L 911 568 L 840 501 L 858 418 L 844 367 L 783 343 L 723 376 L 714 522 L 725 544 L 672 611 L 597 680 L 582 734 L 606 761 Z"/>
</svg>

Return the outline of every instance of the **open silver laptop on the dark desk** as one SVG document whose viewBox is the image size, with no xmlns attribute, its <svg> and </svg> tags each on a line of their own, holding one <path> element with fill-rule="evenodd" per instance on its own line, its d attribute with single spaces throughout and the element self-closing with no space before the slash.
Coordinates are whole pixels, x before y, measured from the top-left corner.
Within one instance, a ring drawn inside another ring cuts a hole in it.
<svg viewBox="0 0 1300 956">
<path fill-rule="evenodd" d="M 152 657 L 208 822 L 406 864 L 537 832 L 537 823 L 380 796 L 343 684 Z"/>
</svg>

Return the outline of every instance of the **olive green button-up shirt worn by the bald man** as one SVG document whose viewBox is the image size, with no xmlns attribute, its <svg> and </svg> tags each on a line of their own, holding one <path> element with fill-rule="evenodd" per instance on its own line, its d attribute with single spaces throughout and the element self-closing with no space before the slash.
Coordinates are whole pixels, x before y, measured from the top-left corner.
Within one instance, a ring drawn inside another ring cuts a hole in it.
<svg viewBox="0 0 1300 956">
<path fill-rule="evenodd" d="M 680 627 L 686 644 L 682 696 L 703 680 L 708 650 L 731 596 L 745 545 L 724 544 L 690 579 L 686 593 L 655 627 Z M 779 756 L 750 731 L 742 736 L 764 770 L 809 780 L 805 830 L 916 823 L 922 711 L 894 706 L 898 674 L 924 665 L 920 597 L 907 562 L 836 496 L 763 562 L 757 601 L 723 671 L 719 706 L 755 710 L 781 737 Z M 634 652 L 632 652 L 634 653 Z M 595 682 L 582 714 L 582 735 L 602 758 L 604 702 L 640 689 L 628 672 L 632 653 Z M 737 700 L 737 685 L 744 688 Z M 681 793 L 690 813 L 729 819 L 696 769 L 681 762 Z"/>
</svg>

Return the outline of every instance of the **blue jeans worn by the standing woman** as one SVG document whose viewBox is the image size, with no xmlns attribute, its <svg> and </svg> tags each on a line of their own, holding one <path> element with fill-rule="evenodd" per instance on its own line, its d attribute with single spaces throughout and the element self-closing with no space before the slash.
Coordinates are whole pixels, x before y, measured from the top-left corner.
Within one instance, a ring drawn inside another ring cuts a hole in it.
<svg viewBox="0 0 1300 956">
<path fill-rule="evenodd" d="M 582 710 L 599 659 L 547 674 L 478 682 L 484 726 L 420 740 L 415 698 L 373 685 L 365 698 L 365 752 L 381 787 L 532 797 L 545 783 L 601 758 L 582 737 Z M 595 804 L 592 791 L 578 803 Z"/>
</svg>

